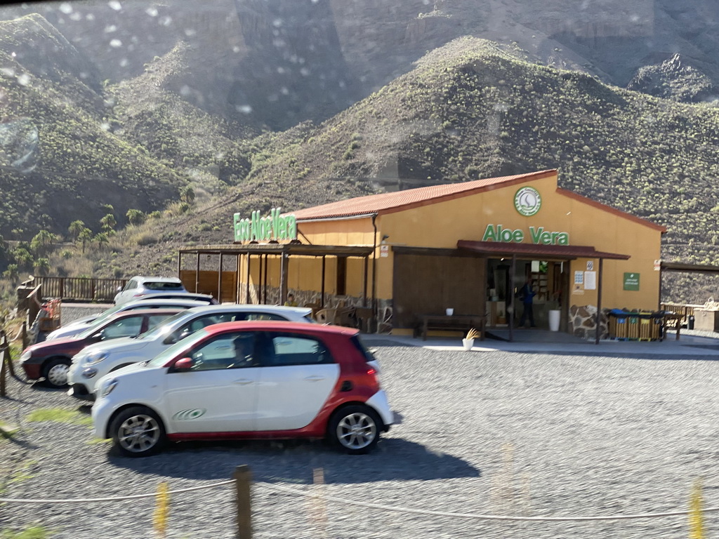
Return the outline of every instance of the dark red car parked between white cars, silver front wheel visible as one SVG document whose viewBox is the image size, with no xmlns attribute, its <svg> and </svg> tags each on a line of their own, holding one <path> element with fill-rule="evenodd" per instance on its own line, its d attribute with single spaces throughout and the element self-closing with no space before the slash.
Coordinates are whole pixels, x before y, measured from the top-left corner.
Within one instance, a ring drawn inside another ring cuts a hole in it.
<svg viewBox="0 0 719 539">
<path fill-rule="evenodd" d="M 145 333 L 181 310 L 183 309 L 127 310 L 109 318 L 100 327 L 88 329 L 71 338 L 58 338 L 28 346 L 20 356 L 25 376 L 31 380 L 44 377 L 53 387 L 63 387 L 68 383 L 68 370 L 73 356 L 86 346 L 112 338 Z"/>
</svg>

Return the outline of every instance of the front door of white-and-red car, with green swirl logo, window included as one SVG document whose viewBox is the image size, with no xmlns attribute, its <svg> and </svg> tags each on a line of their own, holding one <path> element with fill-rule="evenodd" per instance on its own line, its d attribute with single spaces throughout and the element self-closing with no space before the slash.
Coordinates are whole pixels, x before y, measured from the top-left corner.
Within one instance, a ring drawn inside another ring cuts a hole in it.
<svg viewBox="0 0 719 539">
<path fill-rule="evenodd" d="M 189 351 L 189 372 L 168 371 L 165 413 L 170 433 L 229 433 L 255 430 L 257 382 L 255 333 L 235 331 L 203 341 Z"/>
</svg>

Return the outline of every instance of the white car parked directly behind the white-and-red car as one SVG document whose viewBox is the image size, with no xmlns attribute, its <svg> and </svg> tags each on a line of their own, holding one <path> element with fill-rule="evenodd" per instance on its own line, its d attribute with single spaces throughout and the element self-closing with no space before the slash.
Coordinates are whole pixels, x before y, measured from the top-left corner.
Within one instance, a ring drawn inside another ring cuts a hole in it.
<svg viewBox="0 0 719 539">
<path fill-rule="evenodd" d="M 146 303 L 146 302 L 143 302 Z M 95 383 L 121 367 L 150 359 L 199 329 L 221 322 L 290 321 L 314 323 L 312 309 L 275 305 L 206 305 L 188 309 L 137 337 L 117 338 L 87 346 L 76 356 L 68 372 L 69 395 L 92 399 Z"/>
</svg>

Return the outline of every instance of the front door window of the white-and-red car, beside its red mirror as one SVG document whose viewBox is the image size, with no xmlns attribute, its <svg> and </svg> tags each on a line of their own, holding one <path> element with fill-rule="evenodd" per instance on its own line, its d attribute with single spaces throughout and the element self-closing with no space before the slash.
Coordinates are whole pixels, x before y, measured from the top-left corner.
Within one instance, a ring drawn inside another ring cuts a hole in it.
<svg viewBox="0 0 719 539">
<path fill-rule="evenodd" d="M 194 349 L 192 371 L 240 369 L 257 367 L 255 360 L 255 333 L 224 333 Z"/>
</svg>

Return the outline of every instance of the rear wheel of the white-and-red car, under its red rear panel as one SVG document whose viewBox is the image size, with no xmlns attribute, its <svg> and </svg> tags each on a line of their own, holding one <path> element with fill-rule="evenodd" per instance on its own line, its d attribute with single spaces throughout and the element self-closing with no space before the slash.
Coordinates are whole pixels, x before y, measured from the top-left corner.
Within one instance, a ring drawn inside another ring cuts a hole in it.
<svg viewBox="0 0 719 539">
<path fill-rule="evenodd" d="M 351 455 L 362 455 L 380 440 L 381 421 L 368 406 L 351 405 L 337 410 L 329 420 L 329 441 Z"/>
</svg>

